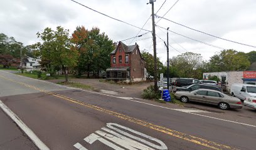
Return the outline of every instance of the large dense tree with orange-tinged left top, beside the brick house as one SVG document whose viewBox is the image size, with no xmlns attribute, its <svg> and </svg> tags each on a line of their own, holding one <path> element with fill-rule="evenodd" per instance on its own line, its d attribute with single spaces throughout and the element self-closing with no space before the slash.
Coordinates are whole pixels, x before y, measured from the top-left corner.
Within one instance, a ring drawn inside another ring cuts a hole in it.
<svg viewBox="0 0 256 150">
<path fill-rule="evenodd" d="M 100 70 L 110 67 L 110 53 L 113 51 L 114 43 L 100 29 L 93 27 L 90 31 L 84 26 L 77 27 L 72 34 L 72 42 L 79 52 L 78 73 L 87 71 L 89 78 L 90 71 L 96 71 L 99 77 Z"/>
</svg>

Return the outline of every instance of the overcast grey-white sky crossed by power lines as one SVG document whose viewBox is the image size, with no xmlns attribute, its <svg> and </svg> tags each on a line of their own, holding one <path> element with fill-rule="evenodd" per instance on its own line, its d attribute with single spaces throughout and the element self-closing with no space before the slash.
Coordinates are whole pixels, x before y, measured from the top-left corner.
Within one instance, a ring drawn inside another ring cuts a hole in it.
<svg viewBox="0 0 256 150">
<path fill-rule="evenodd" d="M 154 2 L 155 13 L 164 1 L 157 0 Z M 149 2 L 146 0 L 77 0 L 77 2 L 138 27 L 142 27 L 151 15 L 151 5 L 146 4 Z M 166 0 L 163 8 L 157 12 L 157 16 L 163 16 L 175 2 L 176 0 Z M 179 0 L 164 17 L 215 36 L 256 46 L 255 8 L 255 0 Z M 166 60 L 166 47 L 161 39 L 166 41 L 167 27 L 171 31 L 223 49 L 235 49 L 245 53 L 256 51 L 256 48 L 216 39 L 165 19 L 158 21 L 159 18 L 156 18 L 157 25 L 164 27 L 164 29 L 156 27 L 157 56 L 161 58 L 163 63 Z M 93 12 L 70 0 L 11 0 L 1 2 L 0 32 L 13 36 L 25 45 L 39 41 L 36 32 L 43 31 L 45 27 L 55 29 L 56 26 L 70 29 L 70 33 L 77 26 L 85 26 L 87 29 L 99 27 L 100 31 L 105 32 L 113 41 L 134 37 L 139 32 L 136 27 L 102 16 L 102 14 Z M 147 21 L 144 29 L 152 31 L 151 19 Z M 141 31 L 139 35 L 145 32 Z M 137 42 L 141 50 L 147 49 L 149 53 L 153 54 L 152 38 L 150 37 L 152 34 L 149 32 L 133 41 L 124 41 L 124 43 L 129 45 Z M 204 59 L 208 60 L 221 51 L 220 48 L 192 41 L 173 32 L 169 32 L 169 44 L 179 51 L 170 47 L 170 58 L 189 51 L 200 53 Z"/>
</svg>

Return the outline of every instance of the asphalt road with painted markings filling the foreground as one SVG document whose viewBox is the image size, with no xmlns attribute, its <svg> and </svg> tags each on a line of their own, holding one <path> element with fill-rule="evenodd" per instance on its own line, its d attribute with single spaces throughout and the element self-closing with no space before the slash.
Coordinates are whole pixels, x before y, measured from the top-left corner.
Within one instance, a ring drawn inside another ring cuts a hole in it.
<svg viewBox="0 0 256 150">
<path fill-rule="evenodd" d="M 0 71 L 0 100 L 49 149 L 255 149 L 255 121 L 120 97 Z M 0 119 L 6 133 L 23 133 L 1 111 Z M 0 134 L 0 149 L 5 137 Z"/>
</svg>

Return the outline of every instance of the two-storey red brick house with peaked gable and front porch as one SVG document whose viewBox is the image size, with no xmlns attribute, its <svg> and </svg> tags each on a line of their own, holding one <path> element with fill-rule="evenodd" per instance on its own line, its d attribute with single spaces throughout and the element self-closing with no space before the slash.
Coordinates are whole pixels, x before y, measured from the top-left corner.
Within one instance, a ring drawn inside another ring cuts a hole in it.
<svg viewBox="0 0 256 150">
<path fill-rule="evenodd" d="M 139 46 L 127 46 L 119 42 L 110 53 L 111 68 L 107 69 L 107 79 L 143 81 L 146 80 L 145 61 L 141 57 Z"/>
</svg>

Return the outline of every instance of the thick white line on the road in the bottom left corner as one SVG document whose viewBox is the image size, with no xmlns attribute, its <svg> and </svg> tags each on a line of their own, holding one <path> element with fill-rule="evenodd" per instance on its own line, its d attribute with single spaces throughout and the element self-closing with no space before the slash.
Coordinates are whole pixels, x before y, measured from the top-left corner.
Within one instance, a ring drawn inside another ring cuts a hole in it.
<svg viewBox="0 0 256 150">
<path fill-rule="evenodd" d="M 0 107 L 3 109 L 3 111 L 8 114 L 8 116 L 13 119 L 13 121 L 23 130 L 24 133 L 27 134 L 29 139 L 35 143 L 35 145 L 38 147 L 40 150 L 50 150 L 37 136 L 31 129 L 26 126 L 26 124 L 19 119 L 19 117 L 11 111 L 1 100 L 0 100 Z"/>
</svg>

